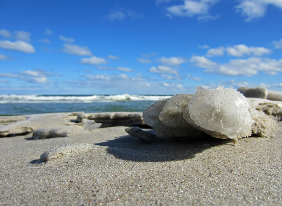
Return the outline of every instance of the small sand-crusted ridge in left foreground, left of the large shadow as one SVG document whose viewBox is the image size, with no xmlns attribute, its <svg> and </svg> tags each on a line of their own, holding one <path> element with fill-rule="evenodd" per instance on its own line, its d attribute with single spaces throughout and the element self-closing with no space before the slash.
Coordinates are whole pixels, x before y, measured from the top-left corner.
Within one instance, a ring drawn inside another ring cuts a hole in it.
<svg viewBox="0 0 282 206">
<path fill-rule="evenodd" d="M 37 163 L 47 162 L 49 160 L 54 160 L 61 158 L 65 155 L 70 154 L 79 154 L 82 152 L 87 152 L 93 149 L 96 145 L 87 144 L 87 143 L 76 143 L 70 145 L 61 145 L 50 150 L 47 150 L 43 154 L 41 154 Z"/>
</svg>

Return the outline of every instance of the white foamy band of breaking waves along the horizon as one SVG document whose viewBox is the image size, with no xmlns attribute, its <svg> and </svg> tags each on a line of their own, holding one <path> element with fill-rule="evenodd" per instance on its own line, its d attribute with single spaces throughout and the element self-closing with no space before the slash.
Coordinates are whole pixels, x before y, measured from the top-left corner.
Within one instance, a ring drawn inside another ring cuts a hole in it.
<svg viewBox="0 0 282 206">
<path fill-rule="evenodd" d="M 0 95 L 0 104 L 7 103 L 91 103 L 117 101 L 160 101 L 171 96 L 157 95 L 92 95 L 92 96 L 42 96 Z"/>
</svg>

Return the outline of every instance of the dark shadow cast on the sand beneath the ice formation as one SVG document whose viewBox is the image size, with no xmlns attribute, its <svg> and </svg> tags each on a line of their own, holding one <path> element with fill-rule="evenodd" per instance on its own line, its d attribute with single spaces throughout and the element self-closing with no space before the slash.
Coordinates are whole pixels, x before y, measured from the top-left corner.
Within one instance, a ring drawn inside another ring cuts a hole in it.
<svg viewBox="0 0 282 206">
<path fill-rule="evenodd" d="M 230 142 L 232 142 L 230 139 L 216 139 L 209 135 L 201 135 L 189 140 L 148 144 L 131 135 L 124 135 L 115 140 L 108 140 L 95 145 L 108 146 L 107 152 L 118 159 L 138 162 L 163 162 L 191 159 L 197 153 Z M 230 144 L 230 146 L 233 145 Z"/>
</svg>

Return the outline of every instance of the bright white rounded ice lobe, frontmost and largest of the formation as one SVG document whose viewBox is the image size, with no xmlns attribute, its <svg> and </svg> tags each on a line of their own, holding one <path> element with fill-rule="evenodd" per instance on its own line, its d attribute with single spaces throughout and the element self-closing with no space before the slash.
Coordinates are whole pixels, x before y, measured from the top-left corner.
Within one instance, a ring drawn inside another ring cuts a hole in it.
<svg viewBox="0 0 282 206">
<path fill-rule="evenodd" d="M 250 131 L 252 119 L 248 101 L 235 89 L 197 87 L 188 107 L 185 112 L 189 111 L 196 125 L 205 130 L 219 132 L 231 139 L 248 135 Z"/>
</svg>

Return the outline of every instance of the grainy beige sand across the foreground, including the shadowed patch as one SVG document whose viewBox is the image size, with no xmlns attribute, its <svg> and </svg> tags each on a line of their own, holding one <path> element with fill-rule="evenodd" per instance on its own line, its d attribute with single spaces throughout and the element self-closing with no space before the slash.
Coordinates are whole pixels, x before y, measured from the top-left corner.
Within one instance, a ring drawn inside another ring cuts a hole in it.
<svg viewBox="0 0 282 206">
<path fill-rule="evenodd" d="M 209 135 L 148 144 L 125 126 L 2 137 L 0 205 L 282 205 L 278 125 L 236 146 Z"/>
</svg>

